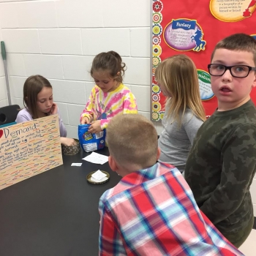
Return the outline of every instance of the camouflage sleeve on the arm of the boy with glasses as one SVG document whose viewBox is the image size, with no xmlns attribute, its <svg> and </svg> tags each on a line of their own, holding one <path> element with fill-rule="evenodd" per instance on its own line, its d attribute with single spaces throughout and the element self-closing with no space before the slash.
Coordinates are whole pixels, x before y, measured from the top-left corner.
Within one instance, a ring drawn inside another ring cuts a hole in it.
<svg viewBox="0 0 256 256">
<path fill-rule="evenodd" d="M 241 124 L 227 138 L 221 152 L 219 185 L 200 209 L 215 225 L 233 214 L 244 200 L 256 165 L 256 127 Z"/>
</svg>

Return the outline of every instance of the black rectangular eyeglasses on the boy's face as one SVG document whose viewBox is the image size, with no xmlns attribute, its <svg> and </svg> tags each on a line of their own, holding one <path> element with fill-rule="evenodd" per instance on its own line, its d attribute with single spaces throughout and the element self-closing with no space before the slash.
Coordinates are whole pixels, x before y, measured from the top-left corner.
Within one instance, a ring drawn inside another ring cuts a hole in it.
<svg viewBox="0 0 256 256">
<path fill-rule="evenodd" d="M 222 76 L 227 69 L 234 78 L 246 78 L 250 71 L 256 70 L 256 67 L 249 67 L 246 65 L 225 66 L 222 64 L 208 64 L 208 71 L 210 75 L 213 76 Z"/>
</svg>

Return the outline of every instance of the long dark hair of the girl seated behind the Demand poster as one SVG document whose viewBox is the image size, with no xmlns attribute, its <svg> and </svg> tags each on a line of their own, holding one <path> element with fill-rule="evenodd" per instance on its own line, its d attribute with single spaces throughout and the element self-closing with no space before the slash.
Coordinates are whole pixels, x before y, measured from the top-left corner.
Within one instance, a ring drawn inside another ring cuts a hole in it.
<svg viewBox="0 0 256 256">
<path fill-rule="evenodd" d="M 43 87 L 52 88 L 50 82 L 42 75 L 31 75 L 24 83 L 23 103 L 33 119 L 39 118 L 37 115 L 37 94 L 42 91 Z"/>
</svg>

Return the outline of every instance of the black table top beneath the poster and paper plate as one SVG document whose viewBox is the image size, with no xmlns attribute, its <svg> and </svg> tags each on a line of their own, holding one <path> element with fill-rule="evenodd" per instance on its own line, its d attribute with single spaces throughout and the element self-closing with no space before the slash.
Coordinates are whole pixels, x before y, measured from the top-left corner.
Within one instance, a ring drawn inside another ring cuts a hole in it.
<svg viewBox="0 0 256 256">
<path fill-rule="evenodd" d="M 108 155 L 108 149 L 98 153 Z M 64 165 L 0 190 L 1 256 L 98 255 L 99 197 L 121 178 L 108 162 L 81 160 L 86 155 L 63 156 Z M 87 174 L 98 169 L 110 180 L 89 184 Z"/>
</svg>

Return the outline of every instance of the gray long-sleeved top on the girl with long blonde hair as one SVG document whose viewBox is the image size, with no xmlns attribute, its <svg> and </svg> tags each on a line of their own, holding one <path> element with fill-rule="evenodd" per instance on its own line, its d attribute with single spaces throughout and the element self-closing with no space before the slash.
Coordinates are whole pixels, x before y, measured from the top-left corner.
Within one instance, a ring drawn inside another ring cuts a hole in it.
<svg viewBox="0 0 256 256">
<path fill-rule="evenodd" d="M 197 130 L 203 124 L 203 121 L 187 109 L 181 121 L 181 127 L 178 127 L 177 121 L 171 121 L 167 118 L 167 111 L 162 119 L 164 129 L 158 140 L 158 146 L 161 149 L 159 162 L 167 162 L 174 165 L 183 173 Z"/>
</svg>

